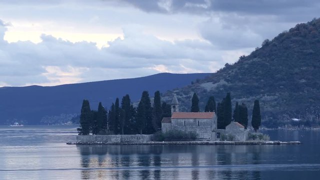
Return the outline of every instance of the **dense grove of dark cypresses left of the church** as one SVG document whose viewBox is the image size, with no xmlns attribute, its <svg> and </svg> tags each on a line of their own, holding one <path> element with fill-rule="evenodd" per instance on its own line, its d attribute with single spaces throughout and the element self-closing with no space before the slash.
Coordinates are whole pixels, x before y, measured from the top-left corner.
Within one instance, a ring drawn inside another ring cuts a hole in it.
<svg viewBox="0 0 320 180">
<path fill-rule="evenodd" d="M 149 93 L 143 91 L 137 107 L 128 94 L 111 104 L 109 111 L 99 102 L 97 110 L 91 110 L 89 101 L 84 99 L 80 114 L 80 135 L 87 134 L 152 134 L 161 130 L 163 117 L 171 116 L 171 106 L 161 103 L 160 92 L 154 92 L 153 106 Z"/>
</svg>

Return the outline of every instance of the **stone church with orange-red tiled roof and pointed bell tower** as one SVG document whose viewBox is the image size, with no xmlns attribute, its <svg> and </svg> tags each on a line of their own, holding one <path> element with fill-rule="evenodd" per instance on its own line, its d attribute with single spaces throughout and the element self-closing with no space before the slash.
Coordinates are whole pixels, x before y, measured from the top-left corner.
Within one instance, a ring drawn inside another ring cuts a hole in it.
<svg viewBox="0 0 320 180">
<path fill-rule="evenodd" d="M 198 139 L 216 140 L 214 112 L 179 112 L 179 102 L 174 94 L 171 101 L 171 117 L 163 117 L 162 132 L 168 130 L 195 131 Z"/>
</svg>

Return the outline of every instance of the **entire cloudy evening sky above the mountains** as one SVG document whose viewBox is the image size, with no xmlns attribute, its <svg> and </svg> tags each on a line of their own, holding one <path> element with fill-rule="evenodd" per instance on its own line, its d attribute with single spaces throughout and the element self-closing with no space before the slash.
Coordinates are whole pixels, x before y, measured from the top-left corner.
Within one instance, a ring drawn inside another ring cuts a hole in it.
<svg viewBox="0 0 320 180">
<path fill-rule="evenodd" d="M 0 86 L 215 72 L 318 0 L 0 0 Z"/>
</svg>

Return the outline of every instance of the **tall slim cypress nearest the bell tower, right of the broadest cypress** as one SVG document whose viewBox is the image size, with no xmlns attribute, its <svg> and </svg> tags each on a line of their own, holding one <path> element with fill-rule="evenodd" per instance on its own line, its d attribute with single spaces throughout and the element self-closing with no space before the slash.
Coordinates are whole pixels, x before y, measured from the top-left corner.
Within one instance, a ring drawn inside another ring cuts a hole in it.
<svg viewBox="0 0 320 180">
<path fill-rule="evenodd" d="M 152 109 L 152 124 L 155 131 L 161 130 L 162 109 L 160 92 L 154 92 L 153 109 Z"/>
</svg>

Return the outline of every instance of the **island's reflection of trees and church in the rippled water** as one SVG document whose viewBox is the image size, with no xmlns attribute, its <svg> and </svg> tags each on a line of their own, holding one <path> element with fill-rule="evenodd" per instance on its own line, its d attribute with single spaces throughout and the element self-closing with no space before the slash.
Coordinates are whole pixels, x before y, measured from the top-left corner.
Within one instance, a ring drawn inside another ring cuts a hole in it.
<svg viewBox="0 0 320 180">
<path fill-rule="evenodd" d="M 266 146 L 77 145 L 82 178 L 260 178 Z M 246 166 L 249 165 L 249 166 Z"/>
</svg>

